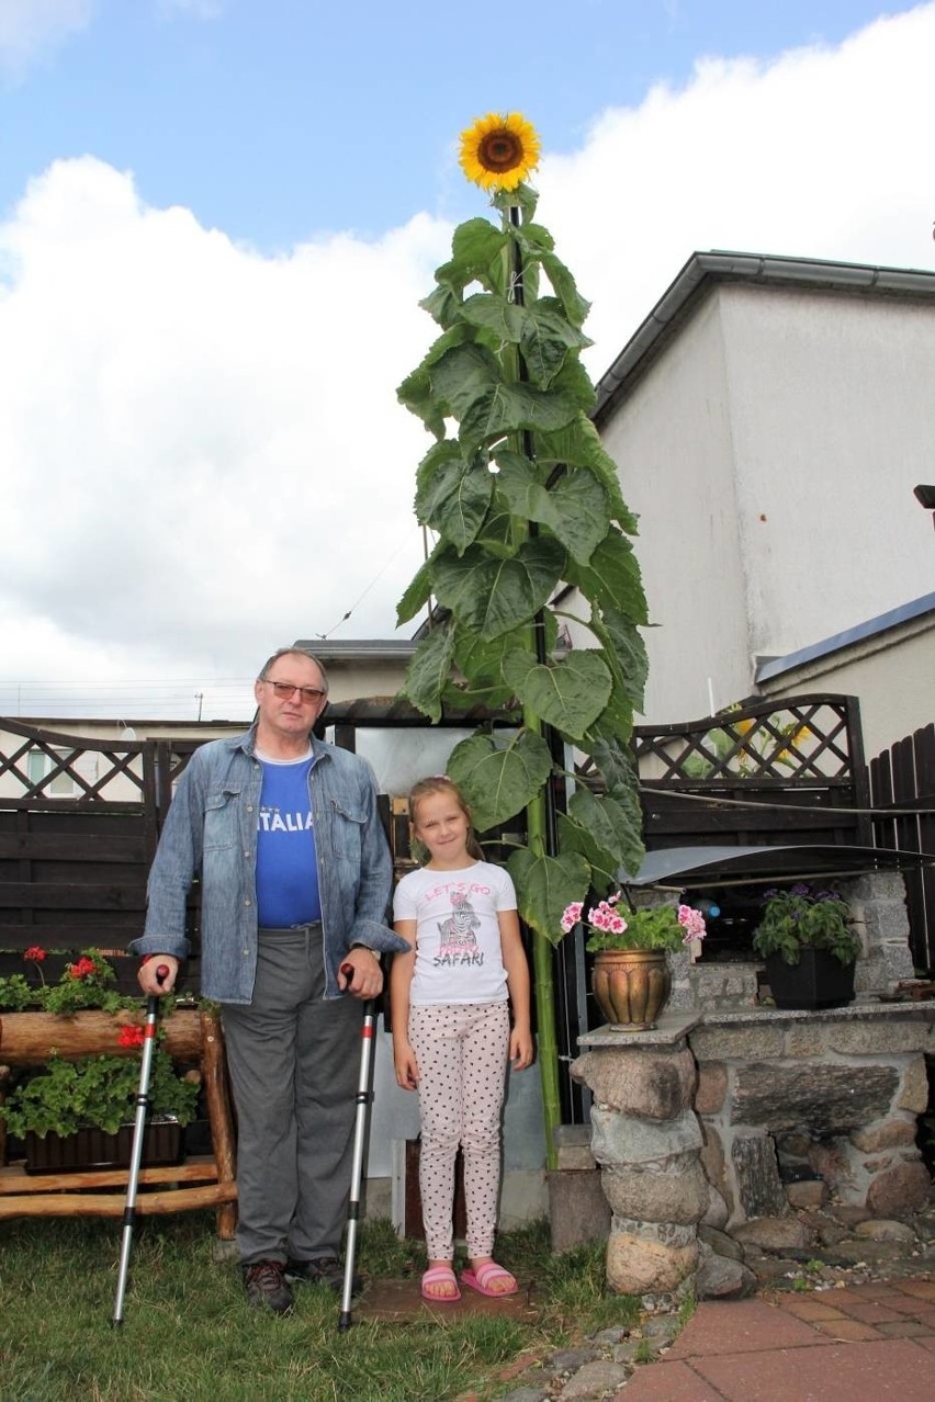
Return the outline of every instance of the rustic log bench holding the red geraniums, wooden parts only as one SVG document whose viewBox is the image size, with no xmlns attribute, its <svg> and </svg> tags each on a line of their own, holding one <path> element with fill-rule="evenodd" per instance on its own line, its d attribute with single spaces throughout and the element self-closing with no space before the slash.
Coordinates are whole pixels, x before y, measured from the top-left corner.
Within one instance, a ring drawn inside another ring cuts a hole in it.
<svg viewBox="0 0 935 1402">
<path fill-rule="evenodd" d="M 0 1016 L 0 1103 L 14 1066 L 42 1066 L 52 1052 L 69 1060 L 107 1053 L 139 1056 L 115 1046 L 121 1023 L 143 1023 L 143 1009 L 116 1014 L 7 1012 Z M 234 1130 L 227 1091 L 220 1021 L 207 1008 L 177 1008 L 161 1023 L 163 1046 L 174 1060 L 198 1063 L 212 1137 L 212 1154 L 184 1164 L 140 1169 L 137 1213 L 217 1209 L 217 1235 L 231 1241 L 237 1224 Z M 66 1173 L 27 1173 L 22 1161 L 7 1162 L 6 1123 L 0 1120 L 0 1218 L 121 1217 L 128 1169 L 95 1168 Z"/>
</svg>

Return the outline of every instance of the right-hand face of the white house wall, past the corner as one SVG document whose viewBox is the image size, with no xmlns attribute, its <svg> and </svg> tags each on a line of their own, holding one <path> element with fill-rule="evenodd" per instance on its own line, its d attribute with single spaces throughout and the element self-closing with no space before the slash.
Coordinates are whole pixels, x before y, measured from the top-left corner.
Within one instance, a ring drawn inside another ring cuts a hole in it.
<svg viewBox="0 0 935 1402">
<path fill-rule="evenodd" d="M 935 307 L 728 285 L 750 646 L 785 655 L 932 587 Z"/>
</svg>

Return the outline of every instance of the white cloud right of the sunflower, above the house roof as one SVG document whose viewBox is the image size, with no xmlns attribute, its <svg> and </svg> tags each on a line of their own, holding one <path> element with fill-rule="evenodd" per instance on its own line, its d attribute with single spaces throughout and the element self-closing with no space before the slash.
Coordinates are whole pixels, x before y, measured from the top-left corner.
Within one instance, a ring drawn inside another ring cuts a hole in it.
<svg viewBox="0 0 935 1402">
<path fill-rule="evenodd" d="M 542 164 L 540 213 L 601 373 L 695 250 L 932 266 L 935 6 L 837 48 L 702 59 Z"/>
</svg>

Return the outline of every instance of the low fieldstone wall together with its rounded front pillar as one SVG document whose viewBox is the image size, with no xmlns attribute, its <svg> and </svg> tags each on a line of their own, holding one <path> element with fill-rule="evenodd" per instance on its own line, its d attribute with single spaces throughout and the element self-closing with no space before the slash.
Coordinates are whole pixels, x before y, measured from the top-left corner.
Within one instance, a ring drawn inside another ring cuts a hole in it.
<svg viewBox="0 0 935 1402">
<path fill-rule="evenodd" d="M 691 1280 L 699 1228 L 784 1217 L 831 1193 L 873 1217 L 925 1203 L 915 1122 L 935 1004 L 666 1012 L 652 1032 L 600 1028 L 580 1046 L 572 1074 L 593 1095 L 607 1280 L 621 1294 Z"/>
</svg>

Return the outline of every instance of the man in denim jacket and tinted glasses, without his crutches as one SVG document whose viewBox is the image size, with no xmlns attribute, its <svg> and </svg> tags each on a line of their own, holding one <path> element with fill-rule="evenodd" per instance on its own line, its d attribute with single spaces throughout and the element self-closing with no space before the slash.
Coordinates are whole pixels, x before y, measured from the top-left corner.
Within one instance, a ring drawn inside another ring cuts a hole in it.
<svg viewBox="0 0 935 1402">
<path fill-rule="evenodd" d="M 149 880 L 143 993 L 168 993 L 200 880 L 203 997 L 221 1004 L 237 1109 L 247 1298 L 276 1314 L 290 1283 L 339 1288 L 363 1001 L 383 987 L 391 859 L 369 765 L 311 729 L 328 680 L 280 648 L 254 687 L 252 729 L 195 751 Z M 156 970 L 168 966 L 163 984 Z"/>
</svg>

